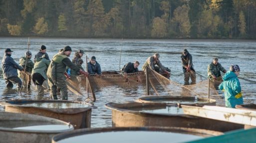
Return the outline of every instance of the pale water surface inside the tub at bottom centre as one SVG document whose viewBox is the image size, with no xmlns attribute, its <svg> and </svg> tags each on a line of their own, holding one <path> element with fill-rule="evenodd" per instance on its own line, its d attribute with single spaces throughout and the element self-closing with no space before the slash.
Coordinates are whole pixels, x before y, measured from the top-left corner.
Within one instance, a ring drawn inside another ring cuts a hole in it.
<svg viewBox="0 0 256 143">
<path fill-rule="evenodd" d="M 70 137 L 57 143 L 183 143 L 203 137 L 171 132 L 119 131 Z"/>
</svg>

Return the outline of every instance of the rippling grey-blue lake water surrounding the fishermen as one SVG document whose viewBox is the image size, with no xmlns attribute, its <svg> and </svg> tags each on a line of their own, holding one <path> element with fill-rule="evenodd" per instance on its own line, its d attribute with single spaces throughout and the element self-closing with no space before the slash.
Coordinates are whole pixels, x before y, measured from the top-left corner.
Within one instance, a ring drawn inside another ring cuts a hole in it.
<svg viewBox="0 0 256 143">
<path fill-rule="evenodd" d="M 119 67 L 123 67 L 128 62 L 138 60 L 141 64 L 141 70 L 146 59 L 154 53 L 160 53 L 161 63 L 171 68 L 171 79 L 179 83 L 183 83 L 181 52 L 184 48 L 193 56 L 193 64 L 196 72 L 207 76 L 207 66 L 211 63 L 213 57 L 218 57 L 219 62 L 225 69 L 229 69 L 230 65 L 237 64 L 241 68 L 240 77 L 256 81 L 256 41 L 252 40 L 123 40 L 120 39 L 65 39 L 65 38 L 30 38 L 30 51 L 32 56 L 39 51 L 40 45 L 47 47 L 47 53 L 50 59 L 57 51 L 66 45 L 72 47 L 72 54 L 78 49 L 85 51 L 83 57 L 88 58 L 95 56 L 97 62 L 101 65 L 102 71 L 118 71 Z M 2 59 L 4 49 L 11 48 L 12 58 L 16 62 L 27 50 L 27 38 L 0 38 L 0 59 Z M 120 49 L 122 47 L 121 65 Z M 85 66 L 83 65 L 85 68 Z M 0 72 L 2 72 L 0 70 Z M 0 74 L 2 76 L 2 74 Z M 256 83 L 250 83 L 241 80 L 242 92 L 245 103 L 256 103 Z M 33 85 L 34 86 L 34 85 Z M 81 88 L 84 96 L 75 95 L 69 92 L 68 100 L 84 101 L 86 91 Z M 35 88 L 30 91 L 23 90 L 21 94 L 17 94 L 15 88 L 5 88 L 5 82 L 0 78 L 0 99 L 35 99 Z M 111 127 L 111 110 L 104 107 L 108 102 L 127 102 L 133 101 L 146 94 L 143 86 L 136 89 L 125 90 L 120 87 L 105 87 L 100 89 L 96 94 L 96 102 L 93 104 L 97 109 L 92 110 L 91 127 Z M 45 93 L 45 98 L 48 93 Z M 59 97 L 60 98 L 60 97 Z M 224 106 L 224 96 L 211 96 L 217 100 L 217 105 Z M 88 100 L 87 100 L 88 101 Z M 0 108 L 3 111 L 3 108 Z"/>
</svg>

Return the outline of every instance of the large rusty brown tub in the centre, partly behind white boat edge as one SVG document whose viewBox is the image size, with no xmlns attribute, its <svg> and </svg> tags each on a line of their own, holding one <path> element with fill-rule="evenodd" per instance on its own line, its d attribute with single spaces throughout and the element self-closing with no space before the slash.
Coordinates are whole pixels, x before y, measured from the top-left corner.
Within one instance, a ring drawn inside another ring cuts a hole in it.
<svg viewBox="0 0 256 143">
<path fill-rule="evenodd" d="M 244 125 L 218 121 L 180 113 L 181 108 L 167 103 L 108 103 L 105 105 L 112 110 L 113 127 L 184 127 L 227 132 L 244 128 Z M 168 107 L 167 107 L 168 106 Z M 169 108 L 170 106 L 170 108 Z M 177 105 L 176 105 L 177 106 Z M 173 108 L 175 107 L 175 108 Z M 139 109 L 139 110 L 138 110 Z M 141 111 L 147 110 L 146 112 Z M 173 113 L 157 113 L 149 110 L 169 110 Z"/>
</svg>

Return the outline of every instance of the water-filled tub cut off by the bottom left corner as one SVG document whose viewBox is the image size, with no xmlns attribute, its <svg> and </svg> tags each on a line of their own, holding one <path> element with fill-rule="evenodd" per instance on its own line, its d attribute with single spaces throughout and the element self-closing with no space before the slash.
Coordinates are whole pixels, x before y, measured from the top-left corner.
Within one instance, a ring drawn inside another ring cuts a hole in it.
<svg viewBox="0 0 256 143">
<path fill-rule="evenodd" d="M 72 125 L 57 119 L 0 112 L 0 143 L 50 143 L 53 135 L 72 130 Z"/>
</svg>

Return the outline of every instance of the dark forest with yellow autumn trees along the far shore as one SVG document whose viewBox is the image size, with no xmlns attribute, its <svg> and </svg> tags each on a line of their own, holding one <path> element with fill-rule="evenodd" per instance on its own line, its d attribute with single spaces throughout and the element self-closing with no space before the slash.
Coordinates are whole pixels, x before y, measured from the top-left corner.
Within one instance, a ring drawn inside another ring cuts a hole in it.
<svg viewBox="0 0 256 143">
<path fill-rule="evenodd" d="M 256 39 L 256 0 L 0 0 L 0 36 Z"/>
</svg>

